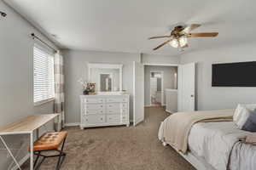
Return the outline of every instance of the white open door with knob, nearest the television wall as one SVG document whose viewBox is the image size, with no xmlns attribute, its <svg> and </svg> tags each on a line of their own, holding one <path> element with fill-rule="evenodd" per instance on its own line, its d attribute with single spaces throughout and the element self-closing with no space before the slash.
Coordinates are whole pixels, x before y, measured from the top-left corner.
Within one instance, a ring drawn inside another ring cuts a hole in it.
<svg viewBox="0 0 256 170">
<path fill-rule="evenodd" d="M 195 63 L 179 65 L 177 111 L 195 111 Z"/>
</svg>

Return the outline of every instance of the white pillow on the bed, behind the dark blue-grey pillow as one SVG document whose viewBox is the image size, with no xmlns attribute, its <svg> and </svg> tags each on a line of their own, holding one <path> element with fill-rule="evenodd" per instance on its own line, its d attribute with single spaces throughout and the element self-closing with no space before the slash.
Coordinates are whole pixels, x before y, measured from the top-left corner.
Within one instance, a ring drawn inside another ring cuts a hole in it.
<svg viewBox="0 0 256 170">
<path fill-rule="evenodd" d="M 250 113 L 256 109 L 255 104 L 251 105 L 237 105 L 236 111 L 233 116 L 233 122 L 236 123 L 237 127 L 241 129 L 245 122 L 247 122 Z"/>
</svg>

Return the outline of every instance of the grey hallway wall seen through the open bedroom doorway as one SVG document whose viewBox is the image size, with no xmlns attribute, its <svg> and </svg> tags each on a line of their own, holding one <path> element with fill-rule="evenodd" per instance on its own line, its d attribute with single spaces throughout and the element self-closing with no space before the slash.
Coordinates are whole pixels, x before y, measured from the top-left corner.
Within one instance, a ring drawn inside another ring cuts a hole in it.
<svg viewBox="0 0 256 170">
<path fill-rule="evenodd" d="M 150 105 L 150 71 L 163 71 L 164 72 L 164 96 L 166 95 L 166 88 L 175 87 L 174 74 L 177 73 L 177 67 L 173 66 L 156 66 L 145 65 L 144 67 L 144 103 Z M 164 97 L 164 104 L 166 104 L 166 98 Z"/>
</svg>

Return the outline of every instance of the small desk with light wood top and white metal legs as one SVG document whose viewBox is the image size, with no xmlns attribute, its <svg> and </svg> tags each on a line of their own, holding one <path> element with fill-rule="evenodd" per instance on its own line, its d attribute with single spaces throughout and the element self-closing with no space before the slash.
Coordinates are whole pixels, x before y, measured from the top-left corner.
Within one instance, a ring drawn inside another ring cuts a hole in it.
<svg viewBox="0 0 256 170">
<path fill-rule="evenodd" d="M 47 114 L 47 115 L 37 115 L 37 116 L 26 116 L 23 119 L 20 119 L 17 122 L 13 122 L 6 127 L 0 129 L 0 139 L 2 140 L 4 147 L 8 150 L 10 156 L 15 161 L 17 167 L 21 170 L 18 161 L 13 156 L 11 150 L 3 139 L 3 135 L 11 135 L 11 134 L 30 134 L 30 169 L 33 169 L 33 132 L 37 130 L 38 136 L 38 128 L 44 126 L 47 122 L 53 120 L 58 114 Z"/>
</svg>

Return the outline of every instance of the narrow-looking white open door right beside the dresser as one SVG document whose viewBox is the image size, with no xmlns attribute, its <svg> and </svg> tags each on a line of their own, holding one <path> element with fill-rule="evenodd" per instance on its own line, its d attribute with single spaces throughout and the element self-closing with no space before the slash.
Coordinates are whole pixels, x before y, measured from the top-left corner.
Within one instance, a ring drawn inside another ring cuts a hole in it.
<svg viewBox="0 0 256 170">
<path fill-rule="evenodd" d="M 133 126 L 144 121 L 144 66 L 133 62 Z"/>
</svg>

